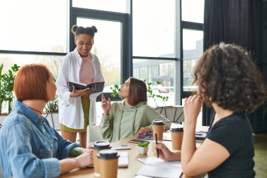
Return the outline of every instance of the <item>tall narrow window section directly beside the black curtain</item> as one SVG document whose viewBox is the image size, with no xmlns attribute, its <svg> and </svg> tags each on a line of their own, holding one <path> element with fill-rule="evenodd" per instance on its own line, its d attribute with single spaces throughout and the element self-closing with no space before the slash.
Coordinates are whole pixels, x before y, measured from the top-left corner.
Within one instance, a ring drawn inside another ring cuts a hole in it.
<svg viewBox="0 0 267 178">
<path fill-rule="evenodd" d="M 193 68 L 203 53 L 204 0 L 181 1 L 181 39 L 183 58 L 183 98 L 196 91 Z"/>
</svg>

